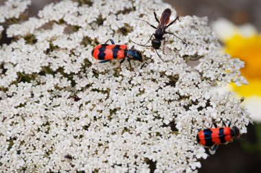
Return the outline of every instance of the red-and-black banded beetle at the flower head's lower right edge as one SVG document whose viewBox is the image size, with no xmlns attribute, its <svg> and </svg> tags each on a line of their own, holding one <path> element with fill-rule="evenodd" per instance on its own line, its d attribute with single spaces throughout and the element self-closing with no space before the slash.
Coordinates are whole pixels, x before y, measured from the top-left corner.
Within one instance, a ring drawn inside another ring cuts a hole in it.
<svg viewBox="0 0 261 173">
<path fill-rule="evenodd" d="M 215 128 L 212 128 L 212 126 Z M 209 152 L 212 153 L 218 147 L 220 143 L 229 143 L 233 141 L 233 138 L 238 138 L 240 136 L 240 132 L 236 126 L 231 126 L 231 122 L 229 122 L 228 126 L 226 126 L 225 122 L 223 122 L 223 126 L 218 128 L 216 123 L 212 123 L 210 128 L 206 128 L 198 132 L 196 135 L 196 141 L 203 146 L 209 147 Z"/>
</svg>

